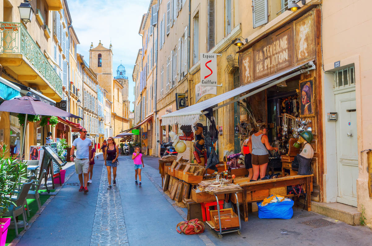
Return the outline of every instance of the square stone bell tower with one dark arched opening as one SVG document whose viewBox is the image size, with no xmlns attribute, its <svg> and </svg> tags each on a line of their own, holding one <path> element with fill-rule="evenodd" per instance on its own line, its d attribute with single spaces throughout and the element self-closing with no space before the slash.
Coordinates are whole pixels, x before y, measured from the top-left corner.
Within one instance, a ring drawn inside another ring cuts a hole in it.
<svg viewBox="0 0 372 246">
<path fill-rule="evenodd" d="M 112 45 L 105 48 L 101 41 L 93 48 L 93 42 L 89 49 L 89 67 L 97 74 L 99 85 L 107 90 L 106 97 L 112 101 L 113 97 L 113 74 L 112 74 Z"/>
</svg>

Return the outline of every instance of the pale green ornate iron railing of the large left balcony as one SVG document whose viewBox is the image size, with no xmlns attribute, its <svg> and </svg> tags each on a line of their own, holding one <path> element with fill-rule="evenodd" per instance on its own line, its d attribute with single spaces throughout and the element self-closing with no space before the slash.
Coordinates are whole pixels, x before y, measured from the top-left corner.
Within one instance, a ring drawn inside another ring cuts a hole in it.
<svg viewBox="0 0 372 246">
<path fill-rule="evenodd" d="M 46 26 L 46 25 L 45 25 Z M 0 53 L 22 54 L 62 95 L 62 80 L 21 23 L 0 22 Z"/>
</svg>

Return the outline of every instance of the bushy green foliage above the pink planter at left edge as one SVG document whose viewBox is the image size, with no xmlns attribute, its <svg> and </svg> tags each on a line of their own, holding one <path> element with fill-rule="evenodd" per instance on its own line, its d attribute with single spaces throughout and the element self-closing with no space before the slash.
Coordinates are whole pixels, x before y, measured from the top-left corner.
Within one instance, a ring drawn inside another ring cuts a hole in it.
<svg viewBox="0 0 372 246">
<path fill-rule="evenodd" d="M 6 145 L 0 145 L 0 212 L 5 213 L 12 201 L 12 195 L 20 184 L 20 178 L 27 178 L 26 162 L 6 157 Z"/>
</svg>

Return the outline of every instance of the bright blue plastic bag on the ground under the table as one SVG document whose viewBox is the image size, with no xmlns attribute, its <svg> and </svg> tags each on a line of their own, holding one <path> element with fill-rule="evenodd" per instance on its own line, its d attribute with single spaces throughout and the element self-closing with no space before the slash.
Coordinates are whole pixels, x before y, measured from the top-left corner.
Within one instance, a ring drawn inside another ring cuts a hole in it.
<svg viewBox="0 0 372 246">
<path fill-rule="evenodd" d="M 291 199 L 290 199 L 291 200 Z M 294 201 L 282 201 L 277 203 L 269 203 L 266 206 L 258 205 L 258 217 L 260 219 L 291 219 L 293 216 Z"/>
</svg>

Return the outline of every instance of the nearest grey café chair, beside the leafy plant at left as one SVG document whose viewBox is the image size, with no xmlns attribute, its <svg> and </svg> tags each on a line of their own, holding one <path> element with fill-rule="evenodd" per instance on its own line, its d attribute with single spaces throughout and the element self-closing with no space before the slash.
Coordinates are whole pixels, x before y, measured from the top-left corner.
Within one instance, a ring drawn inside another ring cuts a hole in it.
<svg viewBox="0 0 372 246">
<path fill-rule="evenodd" d="M 18 228 L 17 228 L 17 221 L 16 221 L 17 216 L 22 214 L 22 216 L 23 216 L 23 226 L 24 226 L 25 230 L 27 229 L 25 201 L 26 201 L 27 193 L 31 188 L 32 182 L 33 181 L 24 183 L 19 192 L 15 191 L 15 193 L 17 193 L 18 195 L 17 195 L 17 198 L 12 198 L 12 200 L 14 201 L 14 203 L 16 205 L 11 204 L 9 206 L 8 210 L 5 213 L 0 215 L 1 217 L 10 217 L 10 216 L 13 217 L 14 227 L 15 227 L 15 230 L 16 230 L 16 237 L 18 236 Z"/>
</svg>

